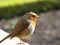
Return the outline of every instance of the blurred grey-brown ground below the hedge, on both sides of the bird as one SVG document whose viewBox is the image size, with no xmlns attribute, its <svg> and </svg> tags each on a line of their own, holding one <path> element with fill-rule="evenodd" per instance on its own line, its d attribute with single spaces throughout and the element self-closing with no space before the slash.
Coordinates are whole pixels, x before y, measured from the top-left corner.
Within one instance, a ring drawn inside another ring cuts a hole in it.
<svg viewBox="0 0 60 45">
<path fill-rule="evenodd" d="M 37 21 L 37 26 L 34 34 L 24 41 L 31 45 L 60 45 L 60 10 L 52 10 L 40 13 L 40 18 Z M 19 17 L 20 18 L 20 17 Z M 16 20 L 15 20 L 16 19 Z M 10 32 L 12 25 L 15 25 L 12 20 L 18 21 L 18 18 L 0 21 L 0 27 Z M 8 27 L 10 24 L 10 27 Z"/>
</svg>

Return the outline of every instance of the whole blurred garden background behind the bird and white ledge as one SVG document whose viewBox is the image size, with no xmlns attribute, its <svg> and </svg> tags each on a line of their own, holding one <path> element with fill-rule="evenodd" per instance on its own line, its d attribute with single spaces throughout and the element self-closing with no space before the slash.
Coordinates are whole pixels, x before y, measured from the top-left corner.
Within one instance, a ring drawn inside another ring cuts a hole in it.
<svg viewBox="0 0 60 45">
<path fill-rule="evenodd" d="M 10 33 L 29 11 L 40 18 L 35 32 L 25 41 L 31 45 L 60 45 L 60 0 L 0 0 L 0 29 Z"/>
</svg>

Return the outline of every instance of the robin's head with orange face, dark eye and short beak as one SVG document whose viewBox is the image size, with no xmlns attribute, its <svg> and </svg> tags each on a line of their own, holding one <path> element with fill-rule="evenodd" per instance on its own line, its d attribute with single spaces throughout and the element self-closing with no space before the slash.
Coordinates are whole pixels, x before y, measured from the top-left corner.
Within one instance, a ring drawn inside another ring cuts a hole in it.
<svg viewBox="0 0 60 45">
<path fill-rule="evenodd" d="M 28 12 L 26 13 L 24 16 L 24 19 L 29 20 L 29 21 L 33 21 L 36 22 L 37 18 L 39 17 L 38 14 L 34 13 L 34 12 Z"/>
</svg>

